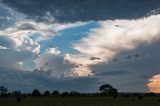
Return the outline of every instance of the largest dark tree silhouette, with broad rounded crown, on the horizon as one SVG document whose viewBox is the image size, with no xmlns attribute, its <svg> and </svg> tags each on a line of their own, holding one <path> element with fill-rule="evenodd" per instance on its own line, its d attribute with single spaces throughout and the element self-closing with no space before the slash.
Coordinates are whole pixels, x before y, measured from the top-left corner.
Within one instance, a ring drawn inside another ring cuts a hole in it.
<svg viewBox="0 0 160 106">
<path fill-rule="evenodd" d="M 108 95 L 108 96 L 117 96 L 118 92 L 117 89 L 113 88 L 109 84 L 104 84 L 99 87 L 99 90 L 102 95 Z"/>
</svg>

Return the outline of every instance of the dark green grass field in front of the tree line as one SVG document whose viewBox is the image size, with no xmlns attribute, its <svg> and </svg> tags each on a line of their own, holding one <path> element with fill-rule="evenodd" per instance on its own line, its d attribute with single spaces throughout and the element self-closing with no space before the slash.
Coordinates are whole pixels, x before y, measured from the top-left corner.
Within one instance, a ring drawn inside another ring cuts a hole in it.
<svg viewBox="0 0 160 106">
<path fill-rule="evenodd" d="M 0 99 L 0 106 L 160 106 L 160 97 L 27 97 L 17 102 L 16 98 Z"/>
</svg>

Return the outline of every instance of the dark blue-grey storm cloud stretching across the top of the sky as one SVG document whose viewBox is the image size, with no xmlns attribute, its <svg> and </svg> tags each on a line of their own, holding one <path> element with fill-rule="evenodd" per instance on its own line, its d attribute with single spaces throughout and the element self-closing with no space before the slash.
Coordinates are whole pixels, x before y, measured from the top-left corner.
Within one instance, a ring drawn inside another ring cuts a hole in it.
<svg viewBox="0 0 160 106">
<path fill-rule="evenodd" d="M 160 7 L 159 0 L 3 0 L 3 3 L 39 21 L 47 21 L 44 15 L 49 12 L 59 22 L 133 19 Z"/>
</svg>

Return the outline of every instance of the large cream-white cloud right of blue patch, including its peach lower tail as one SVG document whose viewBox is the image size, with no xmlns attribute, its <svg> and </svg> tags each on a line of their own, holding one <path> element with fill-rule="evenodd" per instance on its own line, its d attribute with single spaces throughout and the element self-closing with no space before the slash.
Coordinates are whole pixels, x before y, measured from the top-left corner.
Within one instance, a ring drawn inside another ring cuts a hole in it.
<svg viewBox="0 0 160 106">
<path fill-rule="evenodd" d="M 133 51 L 141 44 L 149 45 L 160 39 L 160 15 L 137 20 L 99 21 L 99 24 L 99 28 L 91 29 L 87 37 L 73 45 L 78 54 L 65 56 L 67 61 L 78 67 L 72 69 L 70 76 L 94 75 L 90 66 L 110 64 L 111 61 L 116 61 L 116 56 L 122 52 Z M 91 60 L 91 57 L 98 60 Z M 119 59 L 127 61 L 123 58 L 122 55 Z M 80 65 L 83 68 L 80 68 Z"/>
</svg>

